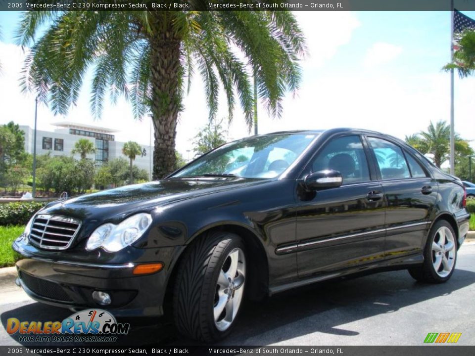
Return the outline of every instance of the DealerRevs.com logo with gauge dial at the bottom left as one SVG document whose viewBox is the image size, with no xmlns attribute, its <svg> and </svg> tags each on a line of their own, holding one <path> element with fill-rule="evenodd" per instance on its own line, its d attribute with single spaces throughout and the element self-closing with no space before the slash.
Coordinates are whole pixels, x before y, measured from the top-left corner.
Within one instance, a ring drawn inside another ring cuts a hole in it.
<svg viewBox="0 0 475 356">
<path fill-rule="evenodd" d="M 129 323 L 118 323 L 114 315 L 101 309 L 87 309 L 72 314 L 63 321 L 20 321 L 8 318 L 8 334 L 19 334 L 20 341 L 26 342 L 113 342 L 115 335 L 126 335 Z M 79 335 L 88 336 L 79 336 Z"/>
</svg>

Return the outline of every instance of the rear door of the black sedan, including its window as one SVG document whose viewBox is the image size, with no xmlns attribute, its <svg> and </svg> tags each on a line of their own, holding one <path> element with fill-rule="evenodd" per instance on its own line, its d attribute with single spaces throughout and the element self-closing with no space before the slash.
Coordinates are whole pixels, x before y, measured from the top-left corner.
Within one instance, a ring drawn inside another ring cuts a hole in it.
<svg viewBox="0 0 475 356">
<path fill-rule="evenodd" d="M 437 197 L 437 182 L 418 159 L 396 142 L 368 136 L 386 199 L 386 251 L 389 258 L 420 254 Z"/>
</svg>

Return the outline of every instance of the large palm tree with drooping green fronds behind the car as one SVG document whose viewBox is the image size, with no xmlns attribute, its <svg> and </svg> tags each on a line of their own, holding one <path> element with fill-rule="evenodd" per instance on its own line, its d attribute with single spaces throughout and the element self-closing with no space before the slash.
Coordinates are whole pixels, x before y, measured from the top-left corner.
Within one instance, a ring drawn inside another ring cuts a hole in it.
<svg viewBox="0 0 475 356">
<path fill-rule="evenodd" d="M 200 0 L 193 4 L 207 6 Z M 120 94 L 130 99 L 136 118 L 150 113 L 154 178 L 175 166 L 177 119 L 195 71 L 205 84 L 210 119 L 222 87 L 230 120 L 238 98 L 250 130 L 253 68 L 259 97 L 273 116 L 281 116 L 285 92 L 298 89 L 298 60 L 306 51 L 295 17 L 280 10 L 27 11 L 17 40 L 31 45 L 23 90 L 37 91 L 54 113 L 65 114 L 76 103 L 91 66 L 96 116 L 108 91 L 112 101 Z"/>
</svg>

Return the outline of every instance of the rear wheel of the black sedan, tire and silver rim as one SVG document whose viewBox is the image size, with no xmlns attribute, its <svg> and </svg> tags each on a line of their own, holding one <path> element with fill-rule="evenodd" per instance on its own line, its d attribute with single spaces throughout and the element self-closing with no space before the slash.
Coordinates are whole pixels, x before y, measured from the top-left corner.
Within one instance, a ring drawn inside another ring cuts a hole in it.
<svg viewBox="0 0 475 356">
<path fill-rule="evenodd" d="M 454 229 L 446 220 L 439 220 L 429 231 L 424 249 L 424 263 L 408 270 L 417 281 L 443 283 L 454 273 L 456 262 L 457 238 Z"/>
</svg>

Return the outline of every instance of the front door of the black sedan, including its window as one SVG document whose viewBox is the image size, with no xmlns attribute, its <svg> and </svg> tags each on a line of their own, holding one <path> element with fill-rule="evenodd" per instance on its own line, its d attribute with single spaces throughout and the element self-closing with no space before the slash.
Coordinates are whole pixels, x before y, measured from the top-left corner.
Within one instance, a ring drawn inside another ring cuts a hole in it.
<svg viewBox="0 0 475 356">
<path fill-rule="evenodd" d="M 297 188 L 296 239 L 299 277 L 334 273 L 383 259 L 384 199 L 368 150 L 358 134 L 331 138 L 301 178 L 339 171 L 339 187 L 316 192 Z M 373 178 L 373 179 L 372 179 Z"/>
</svg>

